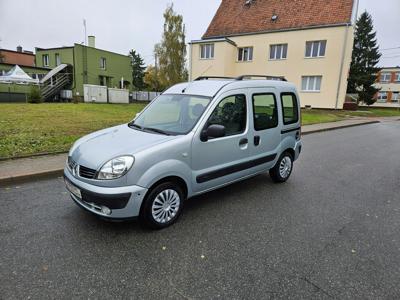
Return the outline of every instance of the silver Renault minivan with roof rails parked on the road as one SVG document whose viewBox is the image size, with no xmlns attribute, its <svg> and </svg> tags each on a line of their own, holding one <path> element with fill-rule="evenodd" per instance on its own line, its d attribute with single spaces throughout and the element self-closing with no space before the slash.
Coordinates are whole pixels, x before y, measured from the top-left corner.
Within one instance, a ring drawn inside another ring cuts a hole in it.
<svg viewBox="0 0 400 300">
<path fill-rule="evenodd" d="M 82 137 L 64 169 L 72 199 L 164 228 L 190 197 L 266 171 L 285 182 L 301 152 L 299 96 L 284 78 L 254 78 L 177 84 L 130 123 Z"/>
</svg>

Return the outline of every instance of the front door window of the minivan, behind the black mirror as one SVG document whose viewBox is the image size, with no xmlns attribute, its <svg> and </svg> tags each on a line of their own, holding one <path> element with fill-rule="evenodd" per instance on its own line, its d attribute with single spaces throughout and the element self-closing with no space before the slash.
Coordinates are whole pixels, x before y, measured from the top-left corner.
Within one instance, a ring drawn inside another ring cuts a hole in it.
<svg viewBox="0 0 400 300">
<path fill-rule="evenodd" d="M 208 119 L 207 125 L 223 125 L 225 127 L 225 136 L 229 136 L 244 132 L 246 120 L 246 96 L 240 94 L 221 100 Z"/>
</svg>

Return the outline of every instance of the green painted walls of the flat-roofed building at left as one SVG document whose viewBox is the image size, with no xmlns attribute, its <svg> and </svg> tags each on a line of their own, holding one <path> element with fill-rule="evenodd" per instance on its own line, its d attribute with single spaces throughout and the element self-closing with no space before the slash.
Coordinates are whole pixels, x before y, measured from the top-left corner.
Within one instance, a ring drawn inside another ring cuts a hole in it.
<svg viewBox="0 0 400 300">
<path fill-rule="evenodd" d="M 44 56 L 48 56 L 47 59 Z M 75 96 L 83 96 L 83 85 L 105 85 L 108 87 L 120 87 L 121 79 L 124 80 L 124 88 L 131 88 L 132 71 L 131 59 L 122 55 L 98 48 L 75 44 L 73 47 L 41 49 L 36 48 L 36 66 L 56 67 L 56 56 L 59 63 L 73 66 L 73 93 Z M 105 68 L 102 62 L 105 60 Z"/>
</svg>

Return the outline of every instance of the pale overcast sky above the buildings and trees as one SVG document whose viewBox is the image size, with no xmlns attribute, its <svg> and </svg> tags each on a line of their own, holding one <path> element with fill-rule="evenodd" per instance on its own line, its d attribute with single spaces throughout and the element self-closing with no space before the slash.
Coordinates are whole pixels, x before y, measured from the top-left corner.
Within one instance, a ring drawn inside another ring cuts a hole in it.
<svg viewBox="0 0 400 300">
<path fill-rule="evenodd" d="M 0 47 L 26 50 L 59 47 L 96 36 L 98 48 L 127 54 L 136 49 L 147 64 L 160 41 L 168 3 L 183 15 L 187 41 L 201 38 L 221 0 L 0 0 Z M 382 49 L 381 66 L 400 65 L 400 1 L 360 0 L 359 13 L 372 14 Z M 393 50 L 384 50 L 397 48 Z"/>
</svg>

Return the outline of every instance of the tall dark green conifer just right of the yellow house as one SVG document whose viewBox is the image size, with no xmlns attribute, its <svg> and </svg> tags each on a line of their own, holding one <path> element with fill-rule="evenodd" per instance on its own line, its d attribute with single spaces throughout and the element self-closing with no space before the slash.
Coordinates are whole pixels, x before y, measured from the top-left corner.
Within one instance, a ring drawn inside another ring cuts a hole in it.
<svg viewBox="0 0 400 300">
<path fill-rule="evenodd" d="M 347 92 L 357 93 L 358 101 L 367 105 L 376 101 L 374 96 L 379 91 L 373 84 L 380 70 L 376 67 L 380 57 L 372 17 L 365 11 L 356 22 Z"/>
</svg>

